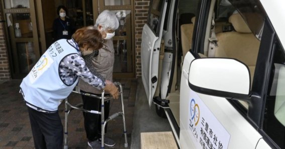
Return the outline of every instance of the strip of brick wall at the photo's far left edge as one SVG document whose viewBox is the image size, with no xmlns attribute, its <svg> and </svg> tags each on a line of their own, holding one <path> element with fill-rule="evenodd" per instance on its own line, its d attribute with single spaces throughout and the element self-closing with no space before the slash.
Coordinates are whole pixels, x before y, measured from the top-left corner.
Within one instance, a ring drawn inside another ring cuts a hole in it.
<svg viewBox="0 0 285 149">
<path fill-rule="evenodd" d="M 3 20 L 0 5 L 0 20 Z M 0 22 L 0 80 L 11 79 L 8 51 L 5 40 L 5 22 Z"/>
</svg>

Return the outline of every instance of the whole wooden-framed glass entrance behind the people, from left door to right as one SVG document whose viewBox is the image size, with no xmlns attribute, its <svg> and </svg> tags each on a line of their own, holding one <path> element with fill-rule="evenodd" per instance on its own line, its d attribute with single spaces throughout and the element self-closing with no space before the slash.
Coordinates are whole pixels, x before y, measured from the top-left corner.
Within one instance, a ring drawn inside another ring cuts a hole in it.
<svg viewBox="0 0 285 149">
<path fill-rule="evenodd" d="M 52 43 L 52 22 L 58 5 L 68 8 L 76 28 L 93 25 L 105 9 L 114 12 L 114 78 L 135 77 L 134 0 L 1 0 L 11 75 L 25 77 Z"/>
</svg>

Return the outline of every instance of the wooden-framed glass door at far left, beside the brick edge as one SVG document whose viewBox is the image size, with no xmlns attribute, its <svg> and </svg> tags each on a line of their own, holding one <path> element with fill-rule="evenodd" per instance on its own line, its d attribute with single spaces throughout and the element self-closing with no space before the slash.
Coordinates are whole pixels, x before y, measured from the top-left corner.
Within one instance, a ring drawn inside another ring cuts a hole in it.
<svg viewBox="0 0 285 149">
<path fill-rule="evenodd" d="M 34 0 L 1 0 L 12 78 L 23 78 L 40 58 Z"/>
</svg>

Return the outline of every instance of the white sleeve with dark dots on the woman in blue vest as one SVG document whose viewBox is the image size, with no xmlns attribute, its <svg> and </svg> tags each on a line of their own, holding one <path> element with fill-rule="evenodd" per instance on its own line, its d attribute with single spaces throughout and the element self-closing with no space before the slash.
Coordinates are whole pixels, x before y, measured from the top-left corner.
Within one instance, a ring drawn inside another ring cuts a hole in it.
<svg viewBox="0 0 285 149">
<path fill-rule="evenodd" d="M 77 75 L 81 77 L 82 80 L 98 89 L 103 89 L 106 86 L 105 80 L 102 80 L 97 75 L 91 73 L 85 64 L 84 59 L 78 54 L 70 54 L 63 58 L 60 62 L 59 70 L 62 80 L 70 80 L 66 81 L 67 84 L 72 83 L 72 80 L 74 82 L 76 80 L 74 78 Z"/>
</svg>

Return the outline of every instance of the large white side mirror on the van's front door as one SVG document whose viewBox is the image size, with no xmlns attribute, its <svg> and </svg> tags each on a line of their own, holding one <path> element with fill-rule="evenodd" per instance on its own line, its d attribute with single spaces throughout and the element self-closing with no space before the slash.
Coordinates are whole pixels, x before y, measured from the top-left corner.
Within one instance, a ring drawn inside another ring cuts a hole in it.
<svg viewBox="0 0 285 149">
<path fill-rule="evenodd" d="M 241 98 L 250 93 L 248 67 L 231 58 L 199 58 L 191 62 L 188 84 L 203 94 Z"/>
</svg>

